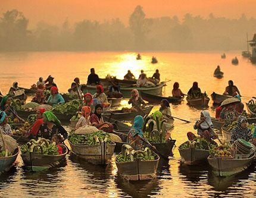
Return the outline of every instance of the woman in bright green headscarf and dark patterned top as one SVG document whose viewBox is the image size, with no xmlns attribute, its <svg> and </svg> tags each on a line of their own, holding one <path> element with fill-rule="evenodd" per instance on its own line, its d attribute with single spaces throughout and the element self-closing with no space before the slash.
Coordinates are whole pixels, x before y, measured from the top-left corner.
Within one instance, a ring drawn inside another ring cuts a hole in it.
<svg viewBox="0 0 256 198">
<path fill-rule="evenodd" d="M 67 139 L 67 131 L 61 126 L 60 120 L 51 112 L 43 112 L 43 124 L 40 125 L 36 137 L 43 137 L 51 140 L 54 134 L 61 134 L 64 139 Z"/>
</svg>

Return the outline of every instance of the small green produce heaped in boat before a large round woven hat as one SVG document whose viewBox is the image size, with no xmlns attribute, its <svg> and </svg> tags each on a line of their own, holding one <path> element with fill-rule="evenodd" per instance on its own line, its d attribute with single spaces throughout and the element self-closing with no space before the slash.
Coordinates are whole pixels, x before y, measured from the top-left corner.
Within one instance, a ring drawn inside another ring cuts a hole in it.
<svg viewBox="0 0 256 198">
<path fill-rule="evenodd" d="M 74 131 L 68 136 L 68 140 L 72 144 L 85 144 L 88 146 L 99 145 L 102 141 L 107 143 L 111 142 L 110 134 L 105 133 L 104 131 L 96 131 L 88 134 L 75 134 Z"/>
</svg>

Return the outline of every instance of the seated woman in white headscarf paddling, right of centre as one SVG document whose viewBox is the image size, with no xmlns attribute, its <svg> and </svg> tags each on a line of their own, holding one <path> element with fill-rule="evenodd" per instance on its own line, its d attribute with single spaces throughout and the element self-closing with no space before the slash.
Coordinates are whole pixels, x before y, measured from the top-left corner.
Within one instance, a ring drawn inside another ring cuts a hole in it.
<svg viewBox="0 0 256 198">
<path fill-rule="evenodd" d="M 208 140 L 210 136 L 211 139 L 217 139 L 217 136 L 213 132 L 213 122 L 208 111 L 203 111 L 200 114 L 200 120 L 197 120 L 193 125 L 193 128 L 197 130 L 197 134 Z"/>
</svg>

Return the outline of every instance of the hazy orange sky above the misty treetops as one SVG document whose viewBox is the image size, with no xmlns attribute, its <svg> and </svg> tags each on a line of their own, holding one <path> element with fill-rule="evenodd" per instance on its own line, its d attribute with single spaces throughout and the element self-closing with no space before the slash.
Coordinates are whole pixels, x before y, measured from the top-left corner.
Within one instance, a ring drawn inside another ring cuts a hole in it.
<svg viewBox="0 0 256 198">
<path fill-rule="evenodd" d="M 256 18 L 256 0 L 0 0 L 0 12 L 17 9 L 30 20 L 30 27 L 38 21 L 51 24 L 89 20 L 120 18 L 125 24 L 136 5 L 142 5 L 146 17 L 177 15 L 186 13 L 207 17 L 239 18 L 242 13 Z"/>
</svg>

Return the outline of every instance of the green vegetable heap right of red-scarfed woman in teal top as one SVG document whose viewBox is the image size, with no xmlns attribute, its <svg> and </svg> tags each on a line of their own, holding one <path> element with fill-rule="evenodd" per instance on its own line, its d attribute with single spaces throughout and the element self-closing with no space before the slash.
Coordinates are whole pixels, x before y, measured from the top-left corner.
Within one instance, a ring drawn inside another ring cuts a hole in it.
<svg viewBox="0 0 256 198">
<path fill-rule="evenodd" d="M 82 107 L 82 101 L 71 100 L 64 104 L 58 104 L 52 108 L 52 112 L 64 115 L 76 115 L 76 112 Z"/>
</svg>

